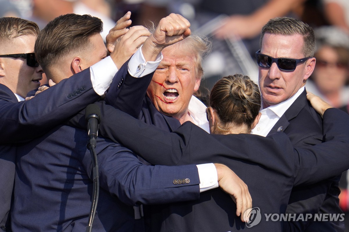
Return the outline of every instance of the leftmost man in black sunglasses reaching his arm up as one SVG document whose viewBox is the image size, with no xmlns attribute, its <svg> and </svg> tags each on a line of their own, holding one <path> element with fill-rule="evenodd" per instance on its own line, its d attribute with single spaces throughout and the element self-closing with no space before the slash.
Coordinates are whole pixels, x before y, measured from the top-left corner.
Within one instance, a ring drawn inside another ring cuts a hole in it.
<svg viewBox="0 0 349 232">
<path fill-rule="evenodd" d="M 0 25 L 0 231 L 10 231 L 15 144 L 46 133 L 99 99 L 109 87 L 117 67 L 133 53 L 119 46 L 109 60 L 62 80 L 30 101 L 23 101 L 29 91 L 39 87 L 42 79 L 43 70 L 34 54 L 39 28 L 34 22 L 13 17 L 0 18 Z M 91 75 L 105 70 L 105 66 L 108 67 L 105 75 Z"/>
</svg>

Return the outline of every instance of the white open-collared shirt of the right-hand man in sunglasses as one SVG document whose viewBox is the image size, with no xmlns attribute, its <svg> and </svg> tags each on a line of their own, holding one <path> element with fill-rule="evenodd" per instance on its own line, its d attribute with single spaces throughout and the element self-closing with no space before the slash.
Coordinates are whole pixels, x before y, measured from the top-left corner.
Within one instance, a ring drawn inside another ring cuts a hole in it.
<svg viewBox="0 0 349 232">
<path fill-rule="evenodd" d="M 295 95 L 279 104 L 269 106 L 261 110 L 261 117 L 258 124 L 252 130 L 252 134 L 266 137 L 269 131 L 275 126 L 276 122 L 286 112 L 286 110 L 296 101 L 303 93 L 305 87 L 300 88 Z"/>
</svg>

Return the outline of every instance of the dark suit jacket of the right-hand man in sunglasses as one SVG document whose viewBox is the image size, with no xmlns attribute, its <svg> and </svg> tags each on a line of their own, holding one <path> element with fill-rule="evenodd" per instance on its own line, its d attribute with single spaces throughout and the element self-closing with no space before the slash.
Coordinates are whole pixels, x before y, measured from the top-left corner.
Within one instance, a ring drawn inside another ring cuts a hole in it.
<svg viewBox="0 0 349 232">
<path fill-rule="evenodd" d="M 307 101 L 306 90 L 296 99 L 284 115 L 276 122 L 269 135 L 282 127 L 295 147 L 308 147 L 319 144 L 324 140 L 322 136 L 322 120 L 319 114 Z M 335 155 L 334 152 L 330 151 Z M 295 187 L 292 190 L 288 214 L 341 214 L 338 195 L 340 175 L 328 178 L 313 185 Z M 344 231 L 342 221 L 291 221 L 286 231 Z"/>
</svg>

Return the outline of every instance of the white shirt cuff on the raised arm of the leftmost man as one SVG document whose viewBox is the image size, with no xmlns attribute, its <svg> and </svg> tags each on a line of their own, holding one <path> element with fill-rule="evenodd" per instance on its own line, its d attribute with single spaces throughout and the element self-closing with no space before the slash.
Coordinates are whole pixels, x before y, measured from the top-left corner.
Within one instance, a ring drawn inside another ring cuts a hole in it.
<svg viewBox="0 0 349 232">
<path fill-rule="evenodd" d="M 92 87 L 99 96 L 109 88 L 117 72 L 118 68 L 110 56 L 90 67 Z"/>
</svg>

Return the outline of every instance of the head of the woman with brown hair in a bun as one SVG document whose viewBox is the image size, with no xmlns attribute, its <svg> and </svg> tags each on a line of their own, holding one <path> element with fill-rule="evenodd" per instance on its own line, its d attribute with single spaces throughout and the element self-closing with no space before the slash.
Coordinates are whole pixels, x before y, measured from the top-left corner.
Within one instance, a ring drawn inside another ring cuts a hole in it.
<svg viewBox="0 0 349 232">
<path fill-rule="evenodd" d="M 216 82 L 209 105 L 211 134 L 251 133 L 260 117 L 261 95 L 248 76 L 235 74 Z"/>
</svg>

